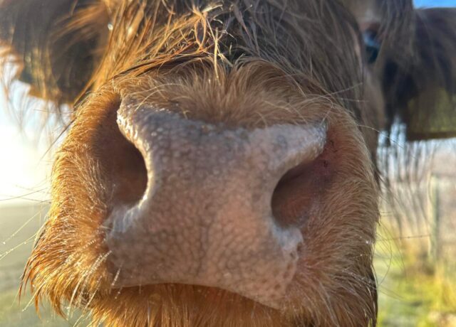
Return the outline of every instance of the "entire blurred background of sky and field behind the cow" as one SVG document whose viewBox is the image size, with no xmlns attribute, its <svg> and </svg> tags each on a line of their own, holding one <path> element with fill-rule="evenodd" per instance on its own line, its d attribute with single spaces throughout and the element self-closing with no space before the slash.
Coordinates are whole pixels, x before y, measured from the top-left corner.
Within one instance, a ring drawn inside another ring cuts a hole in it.
<svg viewBox="0 0 456 327">
<path fill-rule="evenodd" d="M 415 6 L 456 6 L 456 0 L 415 0 Z M 30 291 L 19 303 L 62 139 L 61 122 L 51 117 L 43 124 L 46 104 L 25 97 L 26 88 L 14 82 L 8 97 L 0 90 L 0 326 L 84 326 L 77 312 L 63 319 L 46 306 L 38 318 Z M 24 106 L 36 109 L 14 110 Z M 456 140 L 408 144 L 400 126 L 392 138 L 394 146 L 378 151 L 389 176 L 374 259 L 379 326 L 456 326 Z"/>
</svg>

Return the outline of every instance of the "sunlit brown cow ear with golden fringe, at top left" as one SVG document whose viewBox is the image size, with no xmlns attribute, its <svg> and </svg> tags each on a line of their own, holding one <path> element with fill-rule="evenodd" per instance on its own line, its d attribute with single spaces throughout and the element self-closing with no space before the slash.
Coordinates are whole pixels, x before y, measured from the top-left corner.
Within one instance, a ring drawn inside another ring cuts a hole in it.
<svg viewBox="0 0 456 327">
<path fill-rule="evenodd" d="M 31 95 L 73 103 L 107 39 L 103 1 L 0 0 L 0 59 L 19 66 L 17 78 L 31 85 Z"/>
</svg>

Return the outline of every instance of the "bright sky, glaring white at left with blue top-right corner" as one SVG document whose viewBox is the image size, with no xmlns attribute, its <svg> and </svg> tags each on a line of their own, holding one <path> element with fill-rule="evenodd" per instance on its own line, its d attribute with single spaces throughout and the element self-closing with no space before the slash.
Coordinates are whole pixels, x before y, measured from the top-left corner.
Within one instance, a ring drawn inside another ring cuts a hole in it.
<svg viewBox="0 0 456 327">
<path fill-rule="evenodd" d="M 415 0 L 415 6 L 456 6 L 456 0 Z M 31 112 L 31 122 L 21 129 L 15 119 L 17 113 L 6 107 L 0 89 L 0 205 L 47 200 L 51 171 L 51 157 L 46 154 L 48 141 L 33 126 L 40 113 Z"/>
</svg>

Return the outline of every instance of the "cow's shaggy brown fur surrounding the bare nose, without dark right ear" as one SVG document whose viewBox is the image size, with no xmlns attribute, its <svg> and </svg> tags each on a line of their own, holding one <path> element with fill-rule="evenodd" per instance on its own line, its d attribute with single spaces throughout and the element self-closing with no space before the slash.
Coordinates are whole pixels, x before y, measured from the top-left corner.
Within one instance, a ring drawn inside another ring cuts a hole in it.
<svg viewBox="0 0 456 327">
<path fill-rule="evenodd" d="M 49 219 L 24 274 L 36 304 L 46 297 L 61 314 L 63 304 L 77 306 L 93 326 L 375 325 L 373 157 L 385 117 L 378 77 L 388 60 L 410 70 L 391 49 L 413 53 L 414 38 L 402 41 L 415 14 L 409 1 L 375 4 L 385 53 L 371 71 L 353 3 L 0 1 L 0 39 L 13 45 L 20 78 L 75 108 L 56 156 Z M 312 213 L 281 310 L 202 286 L 111 286 L 101 226 L 113 205 L 135 202 L 145 188 L 142 159 L 115 124 L 127 95 L 228 127 L 326 122 L 328 142 L 309 177 L 279 186 L 272 201 L 285 221 Z"/>
</svg>

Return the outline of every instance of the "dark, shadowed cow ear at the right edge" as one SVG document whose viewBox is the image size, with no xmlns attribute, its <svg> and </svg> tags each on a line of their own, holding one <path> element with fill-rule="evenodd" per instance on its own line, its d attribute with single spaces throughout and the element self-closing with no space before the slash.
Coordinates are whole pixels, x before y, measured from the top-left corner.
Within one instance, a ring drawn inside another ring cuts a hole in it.
<svg viewBox="0 0 456 327">
<path fill-rule="evenodd" d="M 408 65 L 386 63 L 383 85 L 409 141 L 456 136 L 456 9 L 415 10 Z"/>
</svg>

